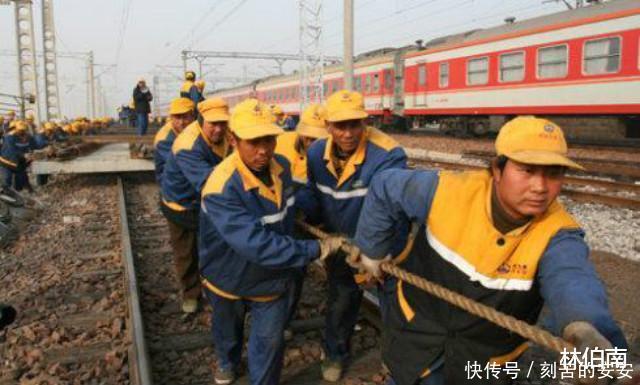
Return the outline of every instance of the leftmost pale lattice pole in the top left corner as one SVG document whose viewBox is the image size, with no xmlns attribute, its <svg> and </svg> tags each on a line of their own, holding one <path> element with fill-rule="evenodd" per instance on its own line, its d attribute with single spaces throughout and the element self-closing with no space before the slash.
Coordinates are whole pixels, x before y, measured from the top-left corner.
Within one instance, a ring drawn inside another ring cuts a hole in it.
<svg viewBox="0 0 640 385">
<path fill-rule="evenodd" d="M 33 113 L 36 125 L 40 124 L 38 103 L 38 72 L 36 68 L 36 44 L 33 31 L 33 10 L 31 0 L 14 0 L 16 23 L 16 48 L 18 49 L 18 82 L 21 99 L 35 99 L 28 107 Z M 26 114 L 26 111 L 25 111 Z M 23 114 L 24 117 L 24 114 Z"/>
</svg>

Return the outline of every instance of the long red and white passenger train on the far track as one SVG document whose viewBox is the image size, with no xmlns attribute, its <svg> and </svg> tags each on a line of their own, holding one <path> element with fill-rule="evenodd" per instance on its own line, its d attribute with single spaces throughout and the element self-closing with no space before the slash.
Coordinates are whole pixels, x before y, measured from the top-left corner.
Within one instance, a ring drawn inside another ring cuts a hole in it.
<svg viewBox="0 0 640 385">
<path fill-rule="evenodd" d="M 324 96 L 343 86 L 324 67 Z M 216 90 L 300 113 L 299 76 Z M 569 137 L 640 137 L 640 1 L 612 0 L 356 57 L 354 88 L 373 123 L 484 135 L 519 114 L 555 120 Z"/>
</svg>

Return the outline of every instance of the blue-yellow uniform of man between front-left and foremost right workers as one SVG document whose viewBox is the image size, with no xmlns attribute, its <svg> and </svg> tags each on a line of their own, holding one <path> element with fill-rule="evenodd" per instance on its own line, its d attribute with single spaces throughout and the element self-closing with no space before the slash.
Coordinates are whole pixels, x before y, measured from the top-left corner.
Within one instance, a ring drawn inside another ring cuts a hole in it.
<svg viewBox="0 0 640 385">
<path fill-rule="evenodd" d="M 300 208 L 311 221 L 320 220 L 326 231 L 353 237 L 371 179 L 387 169 L 406 168 L 404 150 L 388 135 L 367 127 L 356 151 L 346 160 L 342 172 L 334 164 L 333 138 L 315 141 L 308 151 L 308 183 L 300 195 Z M 343 361 L 358 318 L 362 290 L 344 258 L 327 263 L 329 299 L 325 350 L 332 361 Z"/>
</svg>

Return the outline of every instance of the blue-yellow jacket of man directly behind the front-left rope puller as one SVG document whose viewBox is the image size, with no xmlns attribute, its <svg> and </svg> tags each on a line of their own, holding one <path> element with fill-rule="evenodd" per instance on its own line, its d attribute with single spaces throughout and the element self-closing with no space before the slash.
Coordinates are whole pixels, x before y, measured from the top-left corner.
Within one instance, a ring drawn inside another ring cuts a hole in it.
<svg viewBox="0 0 640 385">
<path fill-rule="evenodd" d="M 197 211 L 202 186 L 228 152 L 226 139 L 213 144 L 199 122 L 187 126 L 173 142 L 164 165 L 160 184 L 163 204 L 174 211 Z"/>
</svg>

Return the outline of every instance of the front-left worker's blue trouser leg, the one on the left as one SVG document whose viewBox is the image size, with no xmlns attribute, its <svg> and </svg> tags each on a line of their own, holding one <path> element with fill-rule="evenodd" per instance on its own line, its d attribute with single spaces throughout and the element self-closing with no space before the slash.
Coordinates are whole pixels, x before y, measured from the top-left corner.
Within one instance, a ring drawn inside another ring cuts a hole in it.
<svg viewBox="0 0 640 385">
<path fill-rule="evenodd" d="M 218 367 L 234 371 L 242 358 L 244 316 L 246 306 L 242 300 L 230 300 L 206 290 L 213 309 L 211 312 L 211 336 Z"/>
</svg>

